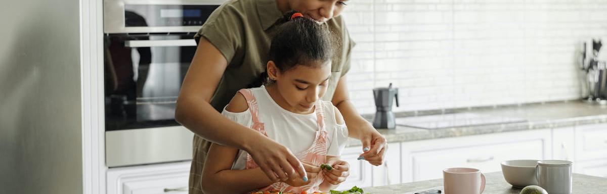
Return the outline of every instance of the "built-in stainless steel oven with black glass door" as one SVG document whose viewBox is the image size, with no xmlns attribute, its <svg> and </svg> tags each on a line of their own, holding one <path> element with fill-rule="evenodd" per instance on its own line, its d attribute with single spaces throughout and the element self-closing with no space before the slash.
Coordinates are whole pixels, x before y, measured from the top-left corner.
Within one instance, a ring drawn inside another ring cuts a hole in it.
<svg viewBox="0 0 607 194">
<path fill-rule="evenodd" d="M 191 159 L 175 102 L 193 36 L 222 2 L 104 0 L 106 166 Z"/>
</svg>

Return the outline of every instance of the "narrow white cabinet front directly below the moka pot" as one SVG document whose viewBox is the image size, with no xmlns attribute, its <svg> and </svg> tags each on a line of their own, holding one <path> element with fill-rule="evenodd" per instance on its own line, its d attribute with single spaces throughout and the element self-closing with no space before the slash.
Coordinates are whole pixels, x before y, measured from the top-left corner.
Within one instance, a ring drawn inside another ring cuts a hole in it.
<svg viewBox="0 0 607 194">
<path fill-rule="evenodd" d="M 373 172 L 373 187 L 401 183 L 401 143 L 389 143 L 384 156 L 384 164 L 373 166 L 371 171 Z"/>
</svg>

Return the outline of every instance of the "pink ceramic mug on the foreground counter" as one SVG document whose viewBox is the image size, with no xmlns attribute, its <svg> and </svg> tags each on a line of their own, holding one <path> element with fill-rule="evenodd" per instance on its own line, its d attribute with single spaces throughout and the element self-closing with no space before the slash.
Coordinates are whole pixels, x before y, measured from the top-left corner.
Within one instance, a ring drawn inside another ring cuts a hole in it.
<svg viewBox="0 0 607 194">
<path fill-rule="evenodd" d="M 443 170 L 445 194 L 481 194 L 485 190 L 485 175 L 472 168 L 449 168 Z"/>
</svg>

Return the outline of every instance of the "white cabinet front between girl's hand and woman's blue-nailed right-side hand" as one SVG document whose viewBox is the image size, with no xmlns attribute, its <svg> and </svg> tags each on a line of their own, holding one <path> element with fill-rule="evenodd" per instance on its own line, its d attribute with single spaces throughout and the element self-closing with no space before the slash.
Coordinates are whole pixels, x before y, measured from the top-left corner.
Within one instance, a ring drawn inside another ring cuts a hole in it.
<svg viewBox="0 0 607 194">
<path fill-rule="evenodd" d="M 358 160 L 362 153 L 360 146 L 347 147 L 342 153 L 341 159 L 350 164 L 350 176 L 337 187 L 336 190 L 348 190 L 353 186 L 370 187 L 372 186 L 373 174 L 371 173 L 371 164 L 366 160 Z"/>
</svg>

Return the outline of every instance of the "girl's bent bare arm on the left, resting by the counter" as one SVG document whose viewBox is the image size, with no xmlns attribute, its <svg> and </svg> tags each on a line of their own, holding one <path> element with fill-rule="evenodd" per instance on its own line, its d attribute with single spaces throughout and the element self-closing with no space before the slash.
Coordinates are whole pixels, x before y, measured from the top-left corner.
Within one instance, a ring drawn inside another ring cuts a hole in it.
<svg viewBox="0 0 607 194">
<path fill-rule="evenodd" d="M 231 170 L 237 154 L 236 148 L 211 144 L 200 183 L 205 193 L 246 193 L 274 183 L 260 168 Z"/>
</svg>

